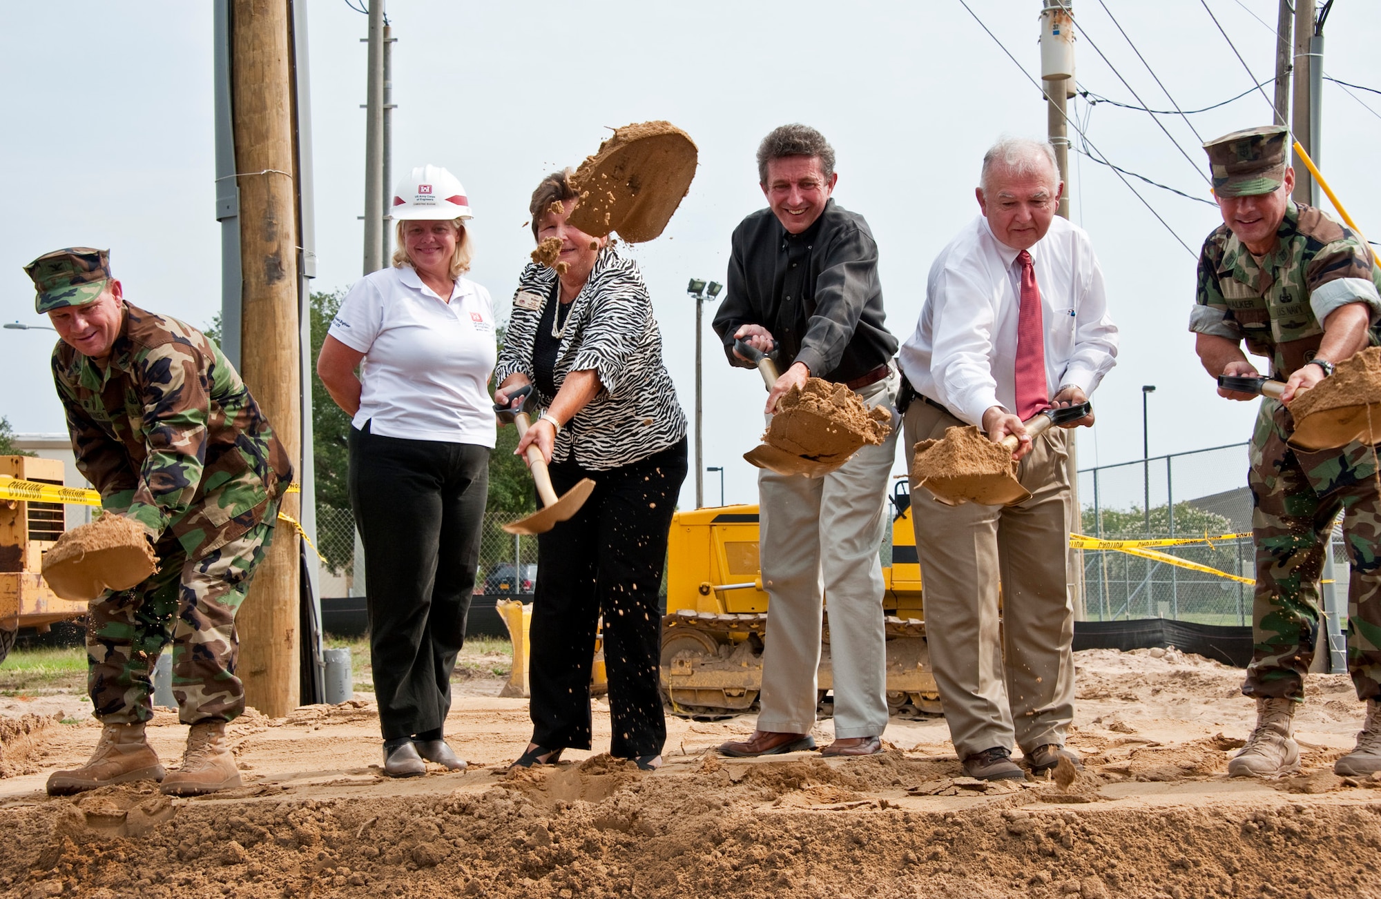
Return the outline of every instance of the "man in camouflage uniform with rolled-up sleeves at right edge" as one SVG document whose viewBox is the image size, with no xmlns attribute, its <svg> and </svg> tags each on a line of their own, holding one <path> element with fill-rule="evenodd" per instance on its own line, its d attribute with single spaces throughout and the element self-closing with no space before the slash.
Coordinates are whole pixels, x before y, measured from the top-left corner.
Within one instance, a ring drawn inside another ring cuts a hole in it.
<svg viewBox="0 0 1381 899">
<path fill-rule="evenodd" d="M 1381 273 L 1362 237 L 1322 210 L 1290 201 L 1283 125 L 1236 131 L 1204 145 L 1224 225 L 1199 256 L 1189 330 L 1211 375 L 1258 372 L 1240 345 L 1271 360 L 1283 400 L 1317 385 L 1333 367 L 1377 343 Z M 1254 394 L 1218 390 L 1232 400 Z M 1251 438 L 1255 644 L 1243 694 L 1257 727 L 1228 765 L 1233 776 L 1300 768 L 1291 718 L 1319 633 L 1319 575 L 1333 521 L 1342 512 L 1348 563 L 1348 670 L 1367 713 L 1340 775 L 1381 771 L 1381 489 L 1377 452 L 1363 443 L 1305 452 L 1291 447 L 1286 404 L 1261 403 Z"/>
</svg>

